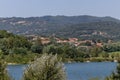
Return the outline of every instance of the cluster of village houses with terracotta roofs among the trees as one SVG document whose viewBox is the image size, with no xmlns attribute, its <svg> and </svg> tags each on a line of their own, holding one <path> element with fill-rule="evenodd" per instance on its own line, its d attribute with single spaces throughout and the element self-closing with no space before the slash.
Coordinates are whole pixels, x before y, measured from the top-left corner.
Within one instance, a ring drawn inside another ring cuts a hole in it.
<svg viewBox="0 0 120 80">
<path fill-rule="evenodd" d="M 42 44 L 50 43 L 50 38 L 48 38 L 48 37 L 38 37 L 36 35 L 28 35 L 27 38 L 30 41 L 35 41 L 39 38 L 41 40 Z M 79 46 L 81 44 L 86 44 L 86 43 L 89 43 L 90 45 L 96 45 L 99 47 L 103 46 L 102 42 L 93 42 L 92 40 L 81 41 L 78 38 L 60 39 L 60 38 L 56 38 L 56 37 L 54 37 L 54 39 L 57 43 L 70 43 L 70 44 L 74 44 L 75 46 Z"/>
</svg>

